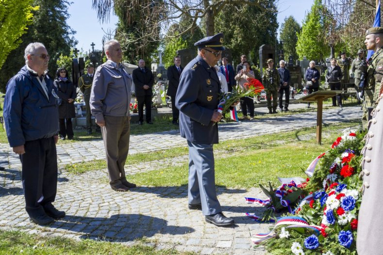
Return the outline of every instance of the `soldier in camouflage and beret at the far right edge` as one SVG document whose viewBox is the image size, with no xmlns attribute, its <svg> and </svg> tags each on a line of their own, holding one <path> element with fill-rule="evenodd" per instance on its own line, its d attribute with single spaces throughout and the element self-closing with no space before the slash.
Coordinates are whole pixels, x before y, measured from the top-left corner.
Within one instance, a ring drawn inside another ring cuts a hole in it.
<svg viewBox="0 0 383 255">
<path fill-rule="evenodd" d="M 367 79 L 364 86 L 363 129 L 367 129 L 368 108 L 375 107 L 378 99 L 383 78 L 383 28 L 374 27 L 366 31 L 365 45 L 367 49 L 374 50 L 374 54 L 368 60 Z"/>
</svg>

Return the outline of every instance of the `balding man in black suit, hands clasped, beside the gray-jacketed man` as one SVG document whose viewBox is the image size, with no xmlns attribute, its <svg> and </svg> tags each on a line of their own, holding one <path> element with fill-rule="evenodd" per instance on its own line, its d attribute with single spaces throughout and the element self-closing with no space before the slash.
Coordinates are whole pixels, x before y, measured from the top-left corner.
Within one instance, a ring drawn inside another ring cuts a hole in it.
<svg viewBox="0 0 383 255">
<path fill-rule="evenodd" d="M 153 95 L 151 87 L 153 86 L 154 78 L 151 70 L 145 66 L 143 59 L 138 61 L 138 68 L 133 70 L 133 82 L 138 105 L 139 124 L 142 125 L 144 121 L 144 104 L 146 123 L 153 124 L 151 122 L 151 96 Z"/>
</svg>

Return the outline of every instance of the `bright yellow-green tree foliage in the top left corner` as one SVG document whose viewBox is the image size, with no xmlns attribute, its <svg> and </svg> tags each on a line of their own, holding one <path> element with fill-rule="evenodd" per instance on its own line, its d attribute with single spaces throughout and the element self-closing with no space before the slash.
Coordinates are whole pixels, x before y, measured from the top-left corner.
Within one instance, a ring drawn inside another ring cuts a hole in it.
<svg viewBox="0 0 383 255">
<path fill-rule="evenodd" d="M 2 0 L 0 5 L 0 68 L 11 50 L 21 43 L 20 37 L 32 22 L 33 0 Z"/>
</svg>

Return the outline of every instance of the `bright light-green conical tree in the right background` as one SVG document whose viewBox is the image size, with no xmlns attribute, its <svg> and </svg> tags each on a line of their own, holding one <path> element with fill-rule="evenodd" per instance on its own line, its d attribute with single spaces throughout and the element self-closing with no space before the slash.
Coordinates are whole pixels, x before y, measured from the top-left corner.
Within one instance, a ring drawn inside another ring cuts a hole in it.
<svg viewBox="0 0 383 255">
<path fill-rule="evenodd" d="M 321 60 L 327 52 L 327 44 L 323 39 L 324 18 L 321 0 L 315 0 L 310 12 L 303 21 L 302 31 L 298 33 L 297 54 L 300 59 Z"/>
</svg>

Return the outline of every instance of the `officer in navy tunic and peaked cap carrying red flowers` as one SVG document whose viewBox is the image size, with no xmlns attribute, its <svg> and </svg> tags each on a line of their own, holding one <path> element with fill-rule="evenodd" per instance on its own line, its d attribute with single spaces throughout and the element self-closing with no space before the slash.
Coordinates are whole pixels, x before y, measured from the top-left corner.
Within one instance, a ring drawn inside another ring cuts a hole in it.
<svg viewBox="0 0 383 255">
<path fill-rule="evenodd" d="M 202 209 L 205 221 L 216 226 L 232 225 L 222 214 L 215 184 L 213 144 L 218 143 L 222 114 L 217 112 L 220 83 L 214 65 L 220 60 L 223 34 L 208 36 L 194 45 L 198 56 L 183 69 L 176 95 L 180 110 L 180 133 L 189 146 L 189 209 Z"/>
</svg>

